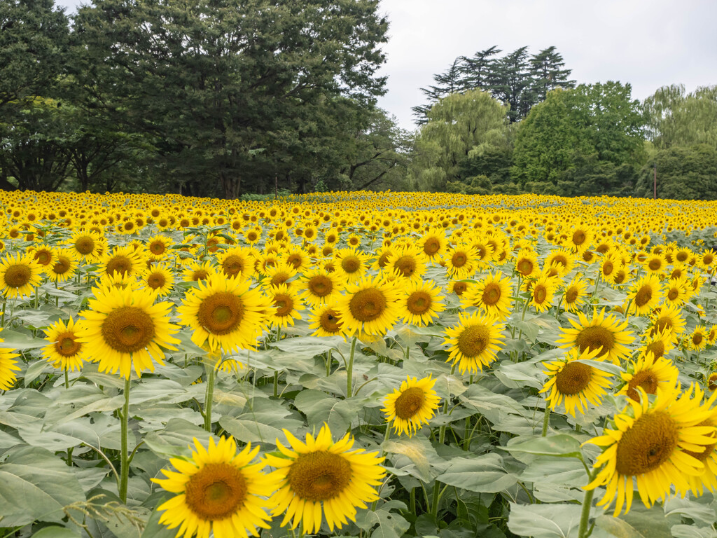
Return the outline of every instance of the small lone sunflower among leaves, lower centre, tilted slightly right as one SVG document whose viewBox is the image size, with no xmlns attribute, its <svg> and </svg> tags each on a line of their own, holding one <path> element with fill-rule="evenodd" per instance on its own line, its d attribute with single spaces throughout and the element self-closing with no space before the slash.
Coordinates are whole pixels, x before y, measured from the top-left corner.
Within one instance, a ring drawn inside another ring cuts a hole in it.
<svg viewBox="0 0 717 538">
<path fill-rule="evenodd" d="M 428 424 L 438 409 L 440 397 L 433 390 L 436 380 L 431 377 L 417 379 L 407 377 L 401 387 L 394 390 L 384 398 L 384 413 L 386 421 L 393 423 L 393 428 L 399 435 L 406 434 L 412 437 L 414 433 Z M 387 425 L 386 428 L 390 428 Z"/>
</svg>

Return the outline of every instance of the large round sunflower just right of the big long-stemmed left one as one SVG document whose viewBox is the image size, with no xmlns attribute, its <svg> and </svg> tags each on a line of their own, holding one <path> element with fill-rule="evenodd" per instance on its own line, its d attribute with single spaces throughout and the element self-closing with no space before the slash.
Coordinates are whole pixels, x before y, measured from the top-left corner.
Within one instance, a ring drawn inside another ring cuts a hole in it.
<svg viewBox="0 0 717 538">
<path fill-rule="evenodd" d="M 249 280 L 213 273 L 189 291 L 177 313 L 194 331 L 194 344 L 229 352 L 237 347 L 255 349 L 273 310 L 269 299 L 250 289 Z"/>
</svg>

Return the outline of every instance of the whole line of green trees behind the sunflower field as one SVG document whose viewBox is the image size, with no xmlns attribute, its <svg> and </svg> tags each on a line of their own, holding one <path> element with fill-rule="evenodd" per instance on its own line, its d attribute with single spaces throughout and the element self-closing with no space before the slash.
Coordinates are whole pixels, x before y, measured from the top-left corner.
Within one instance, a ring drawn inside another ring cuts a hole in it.
<svg viewBox="0 0 717 538">
<path fill-rule="evenodd" d="M 556 47 L 457 57 L 418 128 L 376 105 L 378 0 L 0 2 L 0 188 L 717 198 L 717 87 L 576 84 Z"/>
</svg>

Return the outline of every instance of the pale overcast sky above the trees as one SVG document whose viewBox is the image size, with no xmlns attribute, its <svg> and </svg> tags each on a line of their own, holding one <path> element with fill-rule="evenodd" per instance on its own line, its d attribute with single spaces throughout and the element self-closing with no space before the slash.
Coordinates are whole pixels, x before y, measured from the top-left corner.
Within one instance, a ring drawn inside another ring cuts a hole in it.
<svg viewBox="0 0 717 538">
<path fill-rule="evenodd" d="M 390 27 L 379 105 L 404 128 L 434 73 L 493 45 L 555 45 L 577 82 L 630 82 L 638 99 L 663 85 L 717 84 L 716 0 L 381 0 L 380 9 Z"/>
</svg>

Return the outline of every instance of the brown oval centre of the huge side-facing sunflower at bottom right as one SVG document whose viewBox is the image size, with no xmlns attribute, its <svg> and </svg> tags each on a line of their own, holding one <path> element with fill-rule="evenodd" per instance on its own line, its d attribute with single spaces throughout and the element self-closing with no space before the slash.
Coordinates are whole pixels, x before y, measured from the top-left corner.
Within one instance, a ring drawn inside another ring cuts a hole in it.
<svg viewBox="0 0 717 538">
<path fill-rule="evenodd" d="M 617 442 L 615 469 L 625 476 L 652 471 L 672 456 L 677 443 L 677 423 L 667 412 L 642 415 Z"/>
</svg>

